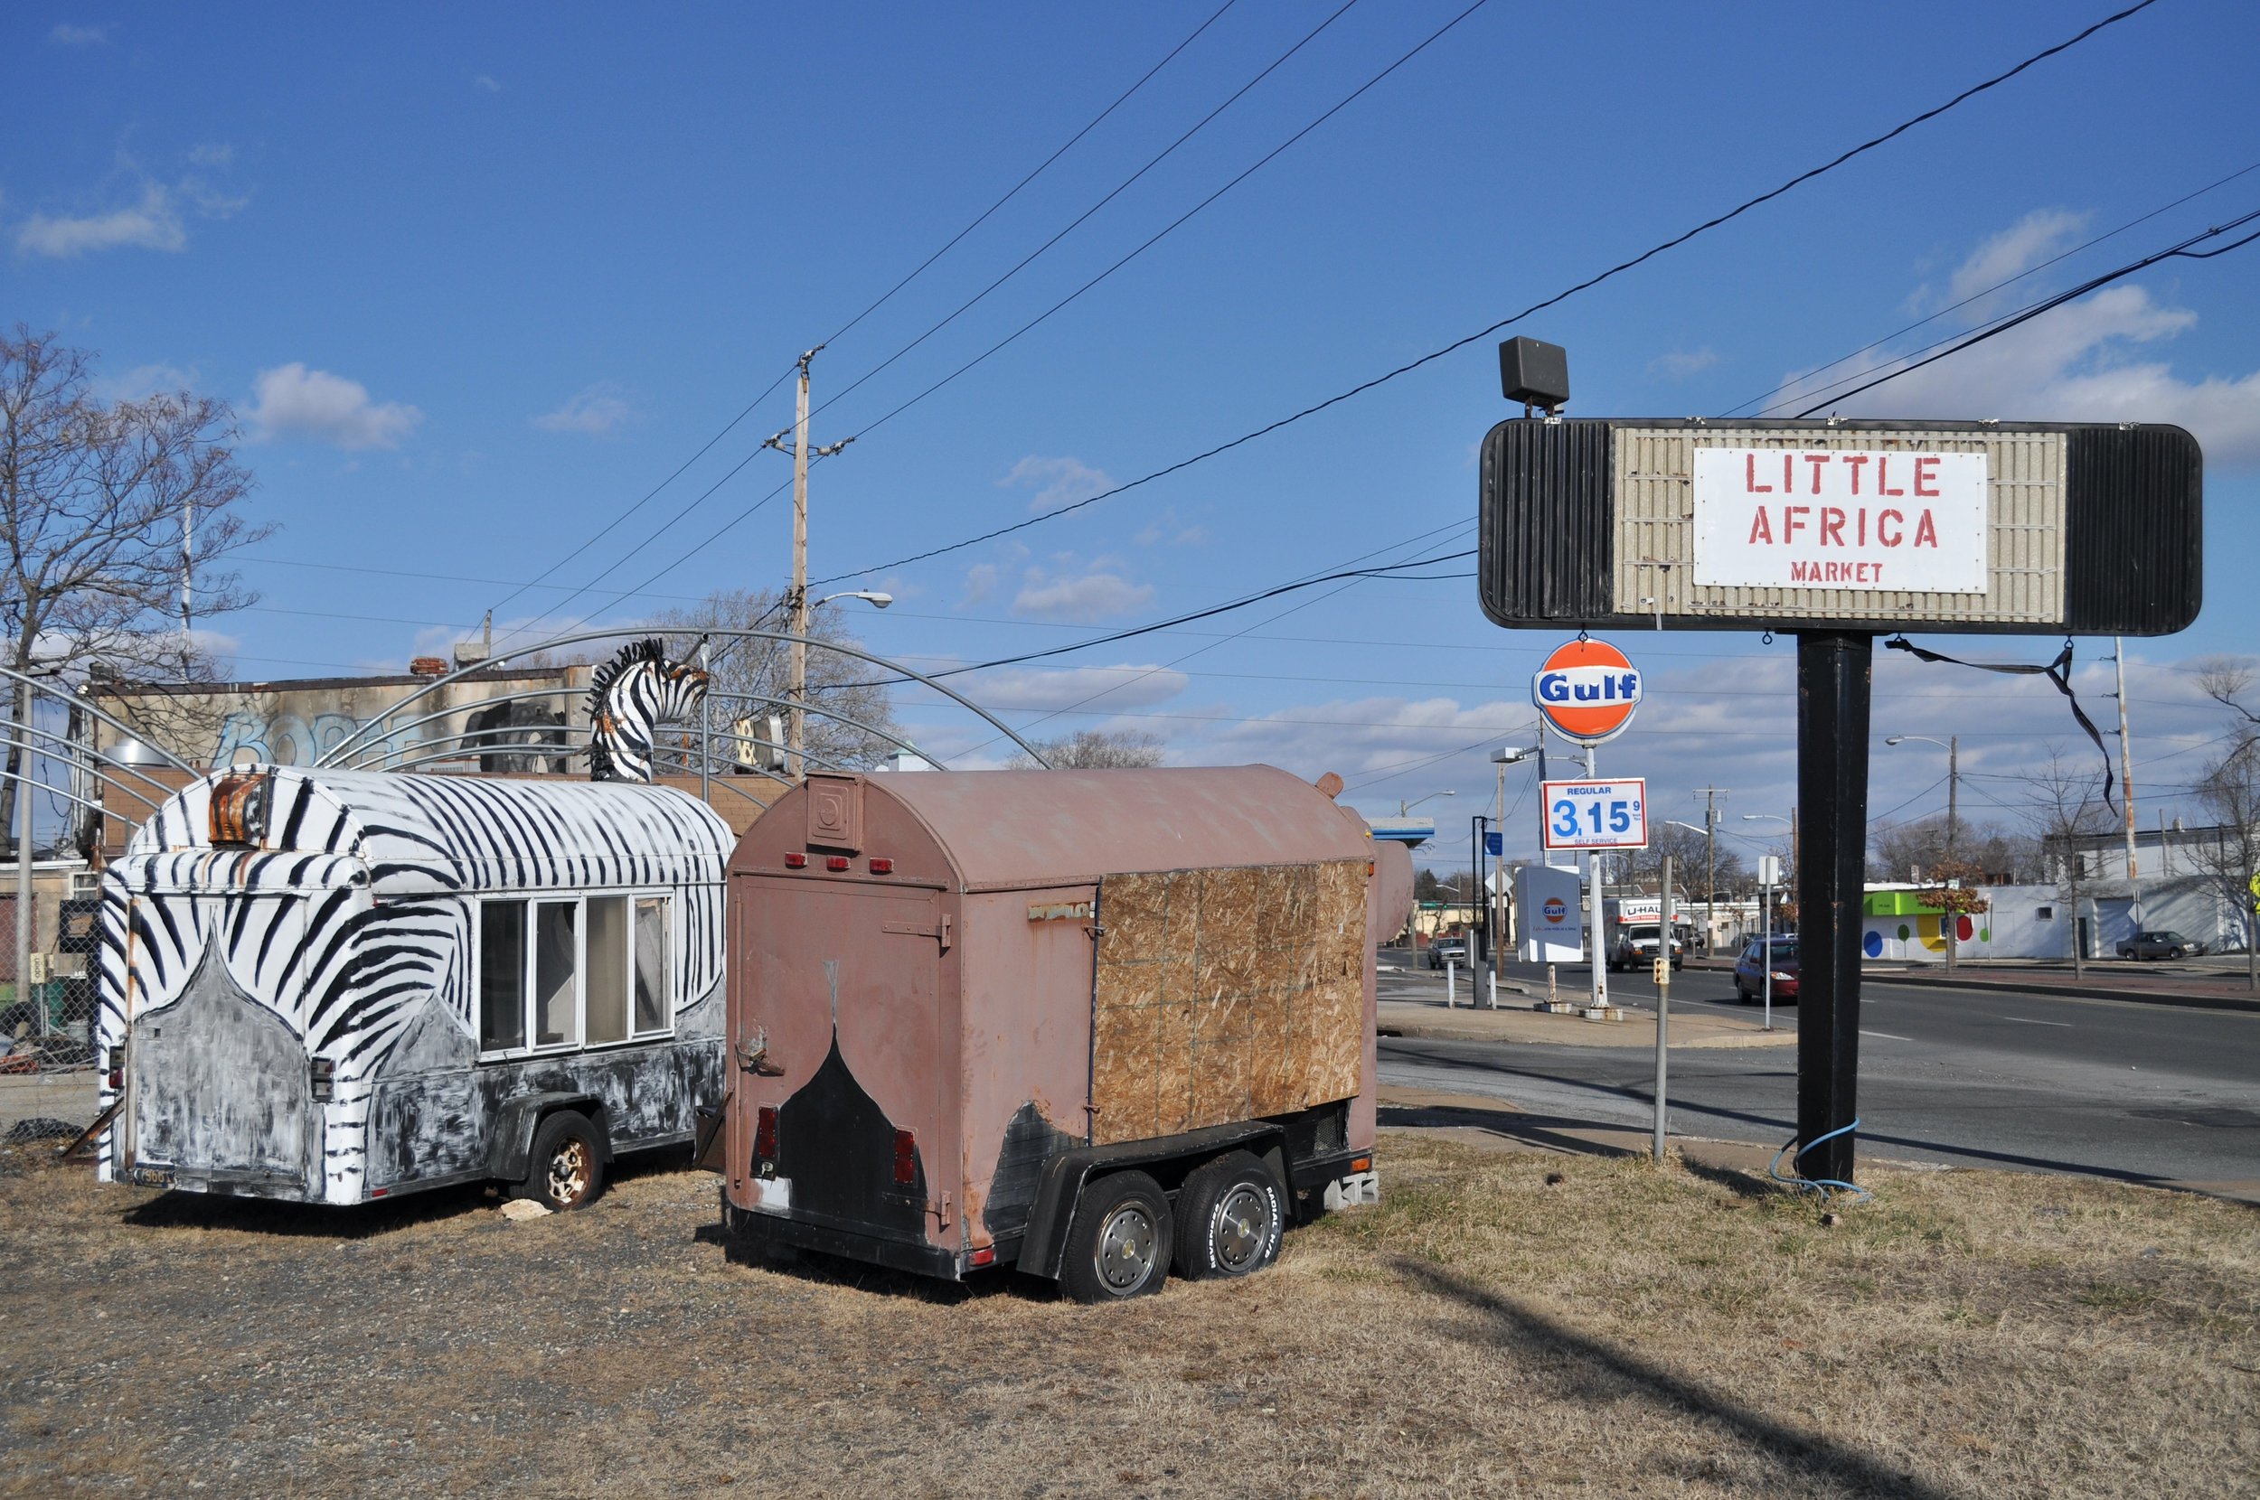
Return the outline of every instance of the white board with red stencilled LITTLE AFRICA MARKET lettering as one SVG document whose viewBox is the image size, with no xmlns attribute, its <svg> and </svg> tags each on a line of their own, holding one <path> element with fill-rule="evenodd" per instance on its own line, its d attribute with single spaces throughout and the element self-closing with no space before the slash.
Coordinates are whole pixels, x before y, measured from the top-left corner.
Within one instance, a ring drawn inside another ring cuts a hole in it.
<svg viewBox="0 0 2260 1500">
<path fill-rule="evenodd" d="M 1695 583 L 1987 592 L 1984 454 L 1695 450 Z"/>
</svg>

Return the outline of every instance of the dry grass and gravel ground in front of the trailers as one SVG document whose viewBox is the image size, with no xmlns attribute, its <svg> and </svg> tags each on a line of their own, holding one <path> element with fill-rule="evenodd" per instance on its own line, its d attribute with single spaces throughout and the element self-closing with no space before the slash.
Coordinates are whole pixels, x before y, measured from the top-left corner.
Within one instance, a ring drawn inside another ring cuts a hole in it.
<svg viewBox="0 0 2260 1500">
<path fill-rule="evenodd" d="M 689 1172 L 508 1224 L 0 1157 L 0 1491 L 2251 1493 L 2251 1209 L 1874 1177 L 1822 1227 L 1733 1172 L 1392 1134 L 1381 1209 L 1096 1310 L 737 1265 Z"/>
</svg>

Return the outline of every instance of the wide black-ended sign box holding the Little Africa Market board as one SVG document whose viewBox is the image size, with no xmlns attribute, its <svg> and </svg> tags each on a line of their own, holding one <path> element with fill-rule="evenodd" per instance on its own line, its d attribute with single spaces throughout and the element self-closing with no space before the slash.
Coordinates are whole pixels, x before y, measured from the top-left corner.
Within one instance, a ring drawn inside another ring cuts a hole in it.
<svg viewBox="0 0 2260 1500">
<path fill-rule="evenodd" d="M 1505 420 L 1476 578 L 1501 626 L 2172 635 L 2204 454 L 2152 422 Z"/>
</svg>

